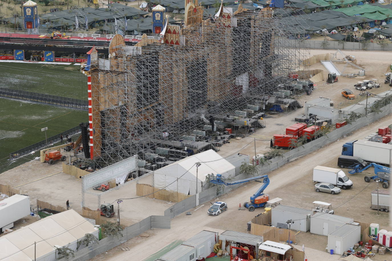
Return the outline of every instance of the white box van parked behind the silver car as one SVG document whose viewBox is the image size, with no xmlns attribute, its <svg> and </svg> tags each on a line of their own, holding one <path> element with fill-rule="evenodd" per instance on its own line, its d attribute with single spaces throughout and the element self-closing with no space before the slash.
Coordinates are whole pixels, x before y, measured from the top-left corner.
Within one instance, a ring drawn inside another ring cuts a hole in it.
<svg viewBox="0 0 392 261">
<path fill-rule="evenodd" d="M 326 182 L 342 189 L 352 187 L 352 181 L 346 176 L 341 169 L 332 167 L 316 166 L 313 169 L 314 182 Z"/>
</svg>

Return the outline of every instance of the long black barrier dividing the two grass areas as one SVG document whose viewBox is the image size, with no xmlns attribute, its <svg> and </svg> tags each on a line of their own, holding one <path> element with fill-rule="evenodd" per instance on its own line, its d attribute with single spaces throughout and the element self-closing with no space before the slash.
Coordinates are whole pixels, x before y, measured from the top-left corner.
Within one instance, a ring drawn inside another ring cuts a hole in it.
<svg viewBox="0 0 392 261">
<path fill-rule="evenodd" d="M 27 92 L 0 87 L 0 96 L 24 101 L 33 101 L 36 103 L 45 103 L 50 105 L 75 108 L 79 110 L 88 110 L 89 102 L 79 99 L 54 96 L 48 94 L 39 94 L 36 92 Z"/>
</svg>

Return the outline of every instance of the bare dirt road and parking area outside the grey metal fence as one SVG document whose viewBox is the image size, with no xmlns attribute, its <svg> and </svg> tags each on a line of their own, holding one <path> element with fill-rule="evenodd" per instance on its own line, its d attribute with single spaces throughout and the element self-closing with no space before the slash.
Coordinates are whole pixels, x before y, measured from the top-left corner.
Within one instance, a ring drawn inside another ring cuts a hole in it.
<svg viewBox="0 0 392 261">
<path fill-rule="evenodd" d="M 344 142 L 362 139 L 368 133 L 374 132 L 379 126 L 384 126 L 388 122 L 392 122 L 392 115 L 388 115 L 361 130 L 355 131 L 348 137 L 333 142 L 325 148 L 318 149 L 305 157 L 270 172 L 270 185 L 265 192 L 271 198 L 282 198 L 282 204 L 304 209 L 310 209 L 314 200 L 332 203 L 332 206 L 337 207 L 336 215 L 351 217 L 356 221 L 379 223 L 383 229 L 391 230 L 392 227 L 388 225 L 388 213 L 380 212 L 380 216 L 377 216 L 377 211 L 369 208 L 369 194 L 372 189 L 376 188 L 376 184 L 374 182 L 366 183 L 363 180 L 365 174 L 350 175 L 349 177 L 352 178 L 354 187 L 336 195 L 314 191 L 314 183 L 310 177 L 312 168 L 316 164 L 336 167 L 337 158 L 341 153 L 341 145 Z M 196 211 L 192 209 L 191 216 L 183 213 L 172 219 L 170 232 L 160 229 L 149 230 L 147 231 L 150 234 L 149 238 L 132 238 L 126 243 L 109 250 L 107 253 L 94 257 L 92 260 L 128 260 L 129 254 L 121 251 L 120 248 L 124 246 L 131 248 L 132 257 L 135 260 L 142 260 L 172 241 L 186 240 L 203 229 L 217 232 L 225 230 L 246 232 L 246 223 L 263 210 L 256 209 L 254 212 L 238 211 L 237 207 L 240 203 L 246 201 L 259 187 L 259 183 L 248 183 L 220 197 L 219 200 L 226 202 L 229 205 L 229 209 L 219 216 L 208 216 L 206 212 L 209 204 L 204 204 L 203 207 Z M 215 200 L 218 200 L 218 198 Z M 310 233 L 307 234 L 310 236 Z M 326 237 L 320 236 L 322 240 L 314 240 L 313 238 L 318 238 L 319 236 L 315 235 L 309 238 L 302 232 L 299 235 L 299 244 L 304 244 L 307 247 L 305 252 L 309 260 L 316 260 L 316 258 L 319 260 L 338 260 L 337 255 L 330 256 L 324 251 Z"/>
</svg>

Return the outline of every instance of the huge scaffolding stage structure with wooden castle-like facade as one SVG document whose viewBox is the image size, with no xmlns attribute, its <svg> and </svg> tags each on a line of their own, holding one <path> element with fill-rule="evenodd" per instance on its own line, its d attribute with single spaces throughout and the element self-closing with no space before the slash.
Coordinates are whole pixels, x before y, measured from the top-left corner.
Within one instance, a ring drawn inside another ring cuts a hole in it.
<svg viewBox="0 0 392 261">
<path fill-rule="evenodd" d="M 197 0 L 187 2 L 184 24 L 166 22 L 159 40 L 144 35 L 133 47 L 116 35 L 110 66 L 92 56 L 84 69 L 92 159 L 111 164 L 135 154 L 145 159 L 157 148 L 213 148 L 208 137 L 216 129 L 263 126 L 269 96 L 303 70 L 307 49 L 297 47 L 274 9 L 221 5 L 203 17 Z"/>
</svg>

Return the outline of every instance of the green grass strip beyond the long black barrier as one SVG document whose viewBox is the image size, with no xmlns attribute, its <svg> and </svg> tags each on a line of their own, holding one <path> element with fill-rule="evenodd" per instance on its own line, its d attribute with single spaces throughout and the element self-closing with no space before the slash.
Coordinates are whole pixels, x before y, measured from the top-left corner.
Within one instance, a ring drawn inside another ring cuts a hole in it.
<svg viewBox="0 0 392 261">
<path fill-rule="evenodd" d="M 87 100 L 87 76 L 78 66 L 0 63 L 0 71 L 0 87 Z"/>
</svg>

